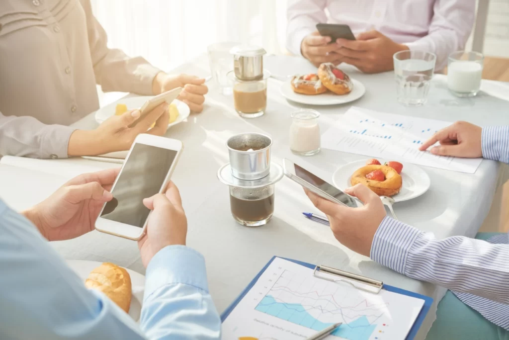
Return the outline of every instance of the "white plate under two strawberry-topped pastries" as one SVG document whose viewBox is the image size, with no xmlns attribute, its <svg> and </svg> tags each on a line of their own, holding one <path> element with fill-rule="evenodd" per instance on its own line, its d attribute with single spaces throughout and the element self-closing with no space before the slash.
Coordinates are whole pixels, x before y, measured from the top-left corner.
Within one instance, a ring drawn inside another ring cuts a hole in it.
<svg viewBox="0 0 509 340">
<path fill-rule="evenodd" d="M 288 100 L 308 105 L 336 105 L 345 104 L 359 99 L 364 95 L 366 89 L 364 85 L 355 79 L 350 78 L 353 82 L 353 90 L 347 95 L 335 95 L 332 92 L 326 92 L 319 95 L 301 95 L 292 90 L 291 79 L 285 81 L 281 85 L 281 95 Z"/>
</svg>

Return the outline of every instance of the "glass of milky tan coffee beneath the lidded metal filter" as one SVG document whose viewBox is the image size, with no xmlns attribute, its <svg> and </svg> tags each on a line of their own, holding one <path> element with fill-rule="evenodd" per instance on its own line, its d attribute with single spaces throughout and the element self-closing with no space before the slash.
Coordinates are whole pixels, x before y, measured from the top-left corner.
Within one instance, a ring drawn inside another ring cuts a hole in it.
<svg viewBox="0 0 509 340">
<path fill-rule="evenodd" d="M 265 114 L 267 108 L 267 79 L 270 74 L 264 72 L 258 80 L 242 80 L 229 73 L 233 82 L 233 103 L 240 117 L 257 118 Z"/>
</svg>

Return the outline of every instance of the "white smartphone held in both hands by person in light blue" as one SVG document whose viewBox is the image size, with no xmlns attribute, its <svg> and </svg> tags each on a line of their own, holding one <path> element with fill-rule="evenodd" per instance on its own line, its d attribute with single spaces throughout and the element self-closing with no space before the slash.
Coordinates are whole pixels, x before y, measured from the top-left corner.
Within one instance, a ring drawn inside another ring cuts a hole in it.
<svg viewBox="0 0 509 340">
<path fill-rule="evenodd" d="M 182 149 L 180 140 L 139 134 L 111 187 L 114 198 L 104 204 L 96 229 L 131 240 L 142 238 L 150 215 L 143 199 L 166 189 Z"/>
</svg>

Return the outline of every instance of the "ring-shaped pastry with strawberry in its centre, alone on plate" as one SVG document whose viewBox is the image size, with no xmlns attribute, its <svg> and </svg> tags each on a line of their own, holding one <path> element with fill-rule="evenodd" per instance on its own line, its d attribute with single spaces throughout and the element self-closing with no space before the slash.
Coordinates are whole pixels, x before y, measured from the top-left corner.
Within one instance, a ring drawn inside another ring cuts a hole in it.
<svg viewBox="0 0 509 340">
<path fill-rule="evenodd" d="M 357 169 L 350 177 L 350 182 L 352 185 L 364 184 L 379 196 L 393 196 L 403 186 L 401 175 L 394 168 L 379 164 Z"/>
</svg>

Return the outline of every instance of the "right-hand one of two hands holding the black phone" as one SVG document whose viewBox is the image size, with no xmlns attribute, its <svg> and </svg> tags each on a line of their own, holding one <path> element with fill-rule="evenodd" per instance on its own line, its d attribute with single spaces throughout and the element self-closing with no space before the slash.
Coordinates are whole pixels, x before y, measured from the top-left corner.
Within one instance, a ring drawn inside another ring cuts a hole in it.
<svg viewBox="0 0 509 340">
<path fill-rule="evenodd" d="M 394 69 L 394 53 L 409 49 L 395 43 L 378 31 L 363 32 L 357 40 L 337 39 L 341 46 L 336 51 L 342 61 L 357 67 L 364 73 L 378 73 Z"/>
</svg>

